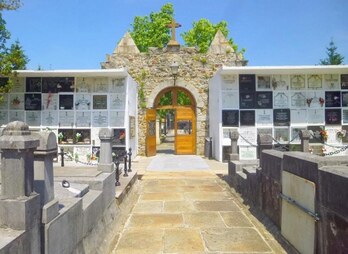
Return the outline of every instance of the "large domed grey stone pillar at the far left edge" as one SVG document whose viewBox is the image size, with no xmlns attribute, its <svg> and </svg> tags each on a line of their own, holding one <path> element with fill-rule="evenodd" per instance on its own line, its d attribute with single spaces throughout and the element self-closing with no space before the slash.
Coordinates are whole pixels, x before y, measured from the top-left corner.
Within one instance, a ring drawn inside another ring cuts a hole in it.
<svg viewBox="0 0 348 254">
<path fill-rule="evenodd" d="M 31 135 L 27 124 L 11 122 L 0 137 L 1 196 L 15 199 L 34 191 L 34 150 L 39 139 Z"/>
</svg>

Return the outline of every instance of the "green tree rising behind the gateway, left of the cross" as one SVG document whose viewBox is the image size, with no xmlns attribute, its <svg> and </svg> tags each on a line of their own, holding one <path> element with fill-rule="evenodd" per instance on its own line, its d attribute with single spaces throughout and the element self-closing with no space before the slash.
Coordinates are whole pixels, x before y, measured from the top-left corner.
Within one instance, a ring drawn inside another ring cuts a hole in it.
<svg viewBox="0 0 348 254">
<path fill-rule="evenodd" d="M 149 16 L 136 16 L 130 34 L 141 52 L 149 47 L 163 48 L 170 40 L 168 24 L 172 21 L 174 9 L 171 3 L 162 6 L 159 12 Z"/>
</svg>

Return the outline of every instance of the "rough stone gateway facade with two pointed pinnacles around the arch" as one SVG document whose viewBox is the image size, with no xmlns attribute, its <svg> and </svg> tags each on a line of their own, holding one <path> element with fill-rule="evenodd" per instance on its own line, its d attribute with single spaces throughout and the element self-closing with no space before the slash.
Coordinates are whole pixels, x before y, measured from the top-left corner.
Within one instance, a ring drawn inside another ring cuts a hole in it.
<svg viewBox="0 0 348 254">
<path fill-rule="evenodd" d="M 179 66 L 174 78 L 171 65 Z M 204 153 L 208 130 L 208 82 L 222 66 L 242 66 L 246 61 L 241 54 L 234 52 L 224 35 L 218 31 L 208 52 L 199 53 L 197 48 L 167 46 L 149 48 L 146 53 L 139 52 L 129 33 L 118 43 L 112 55 L 106 56 L 103 69 L 126 68 L 139 84 L 138 93 L 138 152 L 145 154 L 146 109 L 154 108 L 156 96 L 170 87 L 187 89 L 195 100 L 197 119 L 196 154 Z"/>
</svg>

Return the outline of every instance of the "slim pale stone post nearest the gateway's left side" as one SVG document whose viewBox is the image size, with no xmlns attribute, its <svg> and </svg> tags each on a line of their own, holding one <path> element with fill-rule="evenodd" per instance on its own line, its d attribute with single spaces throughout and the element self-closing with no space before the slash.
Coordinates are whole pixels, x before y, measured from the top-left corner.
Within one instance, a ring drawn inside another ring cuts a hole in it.
<svg viewBox="0 0 348 254">
<path fill-rule="evenodd" d="M 112 162 L 112 140 L 114 133 L 111 129 L 102 128 L 99 131 L 100 156 L 98 170 L 111 173 L 114 170 Z"/>
</svg>

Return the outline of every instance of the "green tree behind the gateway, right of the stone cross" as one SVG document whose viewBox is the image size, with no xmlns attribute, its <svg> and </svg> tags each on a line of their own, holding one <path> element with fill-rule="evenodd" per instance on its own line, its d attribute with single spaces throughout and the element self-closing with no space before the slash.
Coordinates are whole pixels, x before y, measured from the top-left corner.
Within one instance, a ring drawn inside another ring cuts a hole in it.
<svg viewBox="0 0 348 254">
<path fill-rule="evenodd" d="M 218 30 L 220 30 L 222 34 L 228 38 L 226 21 L 221 21 L 214 25 L 209 20 L 202 18 L 198 22 L 193 22 L 193 28 L 182 33 L 181 36 L 183 37 L 187 46 L 198 47 L 201 53 L 206 53 Z M 232 38 L 229 39 L 229 42 L 235 52 L 237 52 L 238 45 L 233 42 Z M 244 51 L 245 50 L 243 49 L 241 53 Z"/>
</svg>

